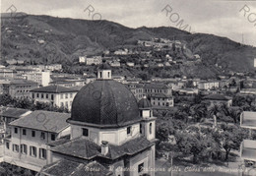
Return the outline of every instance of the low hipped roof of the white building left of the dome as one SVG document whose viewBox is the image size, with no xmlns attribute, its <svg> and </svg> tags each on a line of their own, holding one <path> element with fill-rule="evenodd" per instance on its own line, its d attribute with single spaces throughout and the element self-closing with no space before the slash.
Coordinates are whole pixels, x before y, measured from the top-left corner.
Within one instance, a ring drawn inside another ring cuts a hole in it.
<svg viewBox="0 0 256 176">
<path fill-rule="evenodd" d="M 60 86 L 48 86 L 41 88 L 34 88 L 31 90 L 32 92 L 50 92 L 50 93 L 61 93 L 61 92 L 74 92 L 78 91 L 77 88 L 65 88 Z"/>
</svg>

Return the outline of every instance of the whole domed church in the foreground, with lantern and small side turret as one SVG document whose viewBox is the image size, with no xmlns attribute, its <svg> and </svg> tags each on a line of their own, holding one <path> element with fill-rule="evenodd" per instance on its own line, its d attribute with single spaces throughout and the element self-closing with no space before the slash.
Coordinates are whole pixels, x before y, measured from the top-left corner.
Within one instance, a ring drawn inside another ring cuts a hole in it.
<svg viewBox="0 0 256 176">
<path fill-rule="evenodd" d="M 156 141 L 150 102 L 145 98 L 137 103 L 132 92 L 108 73 L 108 68 L 100 67 L 98 79 L 76 95 L 67 120 L 70 139 L 49 144 L 52 163 L 43 167 L 41 176 L 63 175 L 63 163 L 74 175 L 92 165 L 99 170 L 91 175 L 155 175 L 148 169 L 155 168 Z"/>
</svg>

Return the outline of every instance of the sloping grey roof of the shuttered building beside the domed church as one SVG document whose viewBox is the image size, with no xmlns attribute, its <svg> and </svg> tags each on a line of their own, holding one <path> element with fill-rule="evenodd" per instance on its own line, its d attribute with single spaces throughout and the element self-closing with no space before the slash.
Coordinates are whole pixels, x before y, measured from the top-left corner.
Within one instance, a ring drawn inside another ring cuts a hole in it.
<svg viewBox="0 0 256 176">
<path fill-rule="evenodd" d="M 66 120 L 68 113 L 50 112 L 43 110 L 32 111 L 31 114 L 21 117 L 10 123 L 12 126 L 35 129 L 45 132 L 58 133 L 69 126 Z"/>
</svg>

